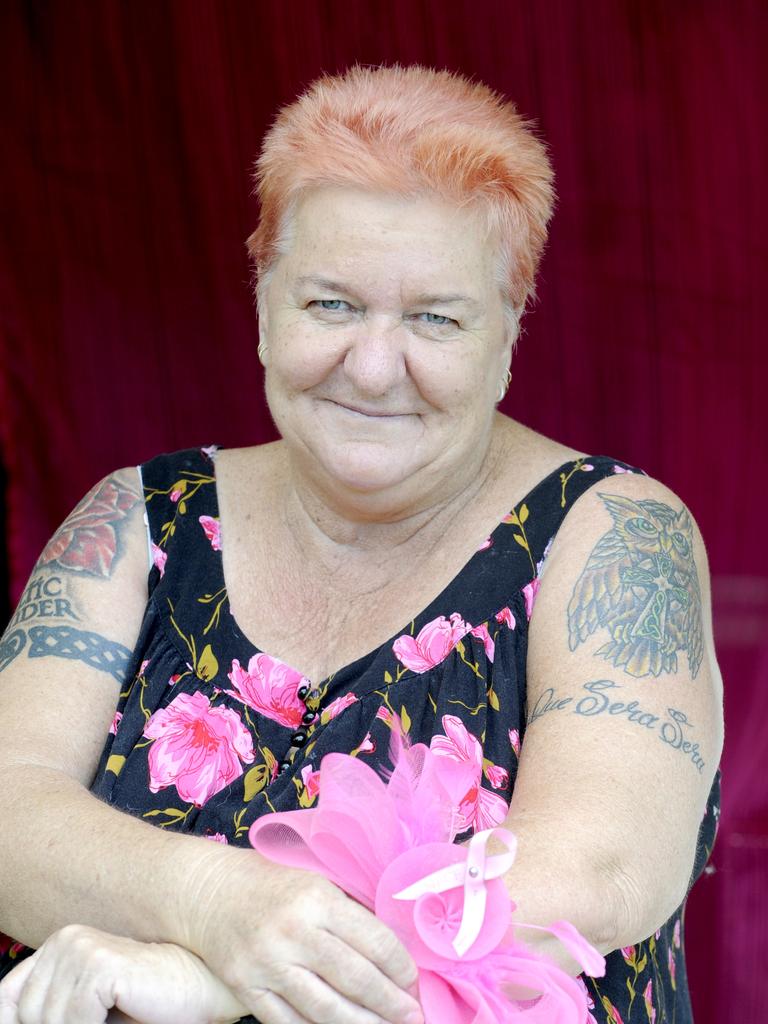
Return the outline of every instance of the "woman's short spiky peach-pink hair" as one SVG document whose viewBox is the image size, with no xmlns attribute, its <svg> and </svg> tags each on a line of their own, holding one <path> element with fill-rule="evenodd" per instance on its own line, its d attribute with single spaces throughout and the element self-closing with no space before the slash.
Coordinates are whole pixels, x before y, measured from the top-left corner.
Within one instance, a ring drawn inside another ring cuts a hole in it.
<svg viewBox="0 0 768 1024">
<path fill-rule="evenodd" d="M 477 206 L 501 240 L 506 300 L 522 311 L 536 296 L 552 167 L 531 123 L 482 83 L 419 65 L 325 75 L 280 111 L 254 180 L 261 214 L 247 245 L 262 284 L 300 195 L 335 184 Z"/>
</svg>

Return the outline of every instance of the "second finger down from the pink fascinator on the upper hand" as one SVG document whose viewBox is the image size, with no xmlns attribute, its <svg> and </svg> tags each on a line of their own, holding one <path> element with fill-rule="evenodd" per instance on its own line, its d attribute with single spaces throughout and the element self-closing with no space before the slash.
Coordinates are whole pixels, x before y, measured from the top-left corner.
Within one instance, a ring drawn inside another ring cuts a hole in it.
<svg viewBox="0 0 768 1024">
<path fill-rule="evenodd" d="M 310 970 L 350 1002 L 368 1008 L 378 1019 L 396 1024 L 409 1014 L 419 1012 L 419 1004 L 412 995 L 330 932 L 323 934 L 322 942 L 313 944 L 312 952 L 314 958 L 307 965 Z"/>
</svg>

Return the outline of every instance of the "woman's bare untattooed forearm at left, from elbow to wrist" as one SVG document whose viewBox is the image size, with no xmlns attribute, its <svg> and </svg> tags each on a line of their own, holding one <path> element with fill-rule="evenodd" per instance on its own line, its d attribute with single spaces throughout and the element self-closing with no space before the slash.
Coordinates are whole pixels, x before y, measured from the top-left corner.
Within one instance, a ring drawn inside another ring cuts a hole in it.
<svg viewBox="0 0 768 1024">
<path fill-rule="evenodd" d="M 242 855 L 109 807 L 47 768 L 0 771 L 0 931 L 33 947 L 70 924 L 183 944 L 186 886 Z"/>
</svg>

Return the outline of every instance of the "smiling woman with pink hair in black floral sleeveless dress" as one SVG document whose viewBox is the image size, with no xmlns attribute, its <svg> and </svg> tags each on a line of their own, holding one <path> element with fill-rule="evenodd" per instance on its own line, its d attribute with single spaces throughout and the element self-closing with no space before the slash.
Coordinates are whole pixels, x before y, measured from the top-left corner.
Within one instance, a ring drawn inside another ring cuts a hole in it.
<svg viewBox="0 0 768 1024">
<path fill-rule="evenodd" d="M 257 181 L 282 439 L 102 481 L 3 642 L 0 928 L 41 949 L 0 1012 L 419 1020 L 393 933 L 247 848 L 312 805 L 325 754 L 386 766 L 399 725 L 476 766 L 460 840 L 516 834 L 514 920 L 607 954 L 594 1020 L 690 1021 L 722 745 L 707 555 L 663 483 L 496 409 L 544 146 L 482 85 L 355 68 L 282 111 Z"/>
</svg>

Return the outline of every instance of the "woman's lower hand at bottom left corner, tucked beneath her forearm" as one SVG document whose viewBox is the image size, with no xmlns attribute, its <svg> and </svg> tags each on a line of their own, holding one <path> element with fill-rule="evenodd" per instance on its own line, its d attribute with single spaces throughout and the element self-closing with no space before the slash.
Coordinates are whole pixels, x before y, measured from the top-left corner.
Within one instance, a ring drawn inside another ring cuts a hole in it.
<svg viewBox="0 0 768 1024">
<path fill-rule="evenodd" d="M 0 982 L 0 1024 L 229 1024 L 246 1012 L 188 950 L 83 925 L 54 932 Z"/>
</svg>

